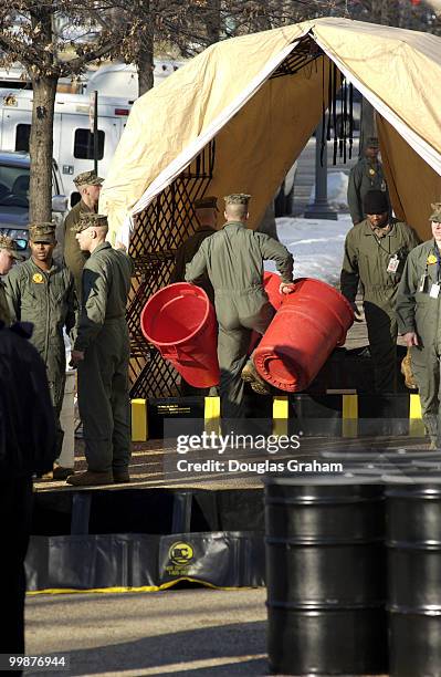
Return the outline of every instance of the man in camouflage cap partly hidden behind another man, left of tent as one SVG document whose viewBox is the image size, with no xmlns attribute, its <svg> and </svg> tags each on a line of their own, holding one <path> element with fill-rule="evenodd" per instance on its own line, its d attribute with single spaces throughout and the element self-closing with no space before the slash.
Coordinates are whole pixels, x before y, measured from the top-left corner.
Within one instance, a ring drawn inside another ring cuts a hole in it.
<svg viewBox="0 0 441 677">
<path fill-rule="evenodd" d="M 75 239 L 75 226 L 82 213 L 96 213 L 99 191 L 104 179 L 95 171 L 83 171 L 74 178 L 74 184 L 81 195 L 81 200 L 69 212 L 64 220 L 64 262 L 74 277 L 76 295 L 81 301 L 81 273 L 88 259 L 87 251 L 81 251 Z"/>
</svg>

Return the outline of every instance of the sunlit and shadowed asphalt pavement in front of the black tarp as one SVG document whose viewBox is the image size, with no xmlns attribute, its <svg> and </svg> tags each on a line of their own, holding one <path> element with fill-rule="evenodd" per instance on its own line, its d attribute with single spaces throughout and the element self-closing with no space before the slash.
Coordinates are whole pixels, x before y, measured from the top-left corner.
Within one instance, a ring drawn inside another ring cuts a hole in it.
<svg viewBox="0 0 441 677">
<path fill-rule="evenodd" d="M 70 668 L 25 675 L 269 675 L 266 590 L 28 595 L 27 655 Z"/>
</svg>

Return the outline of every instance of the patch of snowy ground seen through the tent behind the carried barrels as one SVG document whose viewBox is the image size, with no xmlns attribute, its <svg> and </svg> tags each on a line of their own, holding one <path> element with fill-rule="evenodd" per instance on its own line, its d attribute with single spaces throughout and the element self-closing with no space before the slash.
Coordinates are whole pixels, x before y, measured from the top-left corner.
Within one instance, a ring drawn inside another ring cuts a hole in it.
<svg viewBox="0 0 441 677">
<path fill-rule="evenodd" d="M 280 241 L 294 257 L 295 278 L 339 281 L 345 237 L 353 225 L 348 213 L 336 221 L 282 217 L 275 223 Z M 265 270 L 275 272 L 275 263 L 266 261 Z"/>
</svg>

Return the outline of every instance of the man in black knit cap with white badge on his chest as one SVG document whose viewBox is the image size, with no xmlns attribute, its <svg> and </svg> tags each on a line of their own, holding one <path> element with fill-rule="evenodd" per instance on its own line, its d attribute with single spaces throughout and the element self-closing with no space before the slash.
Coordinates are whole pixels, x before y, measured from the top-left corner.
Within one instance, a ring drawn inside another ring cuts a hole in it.
<svg viewBox="0 0 441 677">
<path fill-rule="evenodd" d="M 389 217 L 381 190 L 366 194 L 366 219 L 346 236 L 342 293 L 355 304 L 361 284 L 370 354 L 377 393 L 396 392 L 397 320 L 395 302 L 408 253 L 420 240 L 410 226 Z"/>
</svg>

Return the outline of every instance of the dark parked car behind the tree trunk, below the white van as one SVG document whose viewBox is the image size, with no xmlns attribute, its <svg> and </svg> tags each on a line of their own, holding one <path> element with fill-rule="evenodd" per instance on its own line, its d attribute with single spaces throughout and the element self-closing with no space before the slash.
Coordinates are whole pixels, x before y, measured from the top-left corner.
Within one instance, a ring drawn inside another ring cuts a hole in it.
<svg viewBox="0 0 441 677">
<path fill-rule="evenodd" d="M 29 181 L 31 162 L 28 153 L 0 150 L 0 232 L 28 250 Z M 60 227 L 67 209 L 59 167 L 52 164 L 52 217 Z"/>
</svg>

